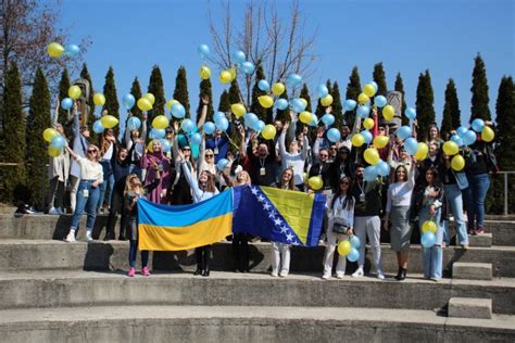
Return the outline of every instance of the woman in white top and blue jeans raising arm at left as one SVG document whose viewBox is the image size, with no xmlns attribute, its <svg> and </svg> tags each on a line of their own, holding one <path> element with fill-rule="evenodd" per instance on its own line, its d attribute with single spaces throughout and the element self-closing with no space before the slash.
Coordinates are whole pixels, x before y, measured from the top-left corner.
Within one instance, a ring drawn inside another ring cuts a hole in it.
<svg viewBox="0 0 515 343">
<path fill-rule="evenodd" d="M 86 240 L 92 241 L 91 232 L 97 218 L 97 203 L 100 196 L 99 186 L 103 182 L 103 170 L 99 163 L 100 150 L 97 145 L 89 144 L 86 151 L 88 157 L 81 157 L 66 145 L 66 151 L 80 166 L 80 181 L 78 182 L 75 212 L 72 217 L 72 226 L 65 238 L 66 242 L 75 242 L 75 233 L 83 212 L 86 209 L 88 219 L 86 221 Z"/>
</svg>

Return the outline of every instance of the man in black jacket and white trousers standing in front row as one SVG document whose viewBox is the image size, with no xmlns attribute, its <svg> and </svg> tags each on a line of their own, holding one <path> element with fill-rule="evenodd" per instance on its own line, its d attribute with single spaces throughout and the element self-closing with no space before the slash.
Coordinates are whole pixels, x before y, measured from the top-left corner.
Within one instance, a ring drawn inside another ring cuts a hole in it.
<svg viewBox="0 0 515 343">
<path fill-rule="evenodd" d="M 355 170 L 355 179 L 352 183 L 350 195 L 355 200 L 354 234 L 360 239 L 361 246 L 357 269 L 352 274 L 352 277 L 360 278 L 365 274 L 365 244 L 366 238 L 368 238 L 377 278 L 385 279 L 380 244 L 381 219 L 379 218 L 381 213 L 382 180 L 377 178 L 374 181 L 365 181 L 365 167 L 363 165 L 356 165 Z"/>
</svg>

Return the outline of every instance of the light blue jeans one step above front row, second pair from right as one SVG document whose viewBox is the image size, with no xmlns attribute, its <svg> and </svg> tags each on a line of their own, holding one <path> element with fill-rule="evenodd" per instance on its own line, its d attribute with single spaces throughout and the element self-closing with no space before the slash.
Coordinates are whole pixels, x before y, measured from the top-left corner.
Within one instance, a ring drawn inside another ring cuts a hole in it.
<svg viewBox="0 0 515 343">
<path fill-rule="evenodd" d="M 444 185 L 445 199 L 449 212 L 454 216 L 456 224 L 457 241 L 460 244 L 468 244 L 467 227 L 465 225 L 465 217 L 463 216 L 463 196 L 462 191 L 457 185 Z M 451 236 L 449 233 L 449 220 L 443 221 L 443 241 L 449 244 Z"/>
</svg>

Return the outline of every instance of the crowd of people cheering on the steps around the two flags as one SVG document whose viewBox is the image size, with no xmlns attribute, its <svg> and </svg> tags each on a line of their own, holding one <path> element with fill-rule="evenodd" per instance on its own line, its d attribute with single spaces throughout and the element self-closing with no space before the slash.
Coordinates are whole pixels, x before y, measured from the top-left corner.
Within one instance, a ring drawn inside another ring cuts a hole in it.
<svg viewBox="0 0 515 343">
<path fill-rule="evenodd" d="M 201 101 L 203 105 L 197 120 L 200 132 L 205 123 L 209 99 L 203 97 Z M 327 113 L 330 111 L 328 106 Z M 246 129 L 228 113 L 229 128 L 226 131 L 216 130 L 213 135 L 202 134 L 202 142 L 197 147 L 190 144 L 188 135 L 180 132 L 177 122 L 166 129 L 166 144 L 149 140 L 147 114 L 143 113 L 140 129 L 126 127 L 123 141 L 118 141 L 113 130 L 108 129 L 97 147 L 89 142 L 88 127 L 79 126 L 79 115 L 77 106 L 74 106 L 70 114 L 73 137 L 62 155 L 50 157 L 49 213 L 64 212 L 63 199 L 68 189 L 73 219 L 65 238 L 67 242 L 75 241 L 85 211 L 86 240 L 92 240 L 96 216 L 103 208 L 109 211 L 104 239 L 115 239 L 115 218 L 120 213 L 118 240 L 130 242 L 129 277 L 136 274 L 137 202 L 143 196 L 154 203 L 184 205 L 202 202 L 226 188 L 241 185 L 323 192 L 327 199 L 324 233 L 319 242 L 326 246 L 324 279 L 332 277 L 338 243 L 353 236 L 362 243 L 357 269 L 352 277 L 365 274 L 365 242 L 368 242 L 375 276 L 384 279 L 381 227 L 389 231 L 391 249 L 397 253 L 397 280 L 406 277 L 413 230 L 422 230 L 426 221 L 432 221 L 437 227 L 435 244 L 423 247 L 426 279 L 438 280 L 442 277 L 442 247 L 451 243 L 450 217 L 455 223 L 456 245 L 462 249 L 468 249 L 468 234 L 483 232 L 489 172 L 497 168 L 497 162 L 491 143 L 481 141 L 479 135 L 474 144 L 460 148 L 466 165 L 463 170 L 455 172 L 451 167 L 451 156 L 443 152 L 444 140 L 436 124 L 430 126 L 428 132 L 417 134 L 414 130 L 418 141 L 425 141 L 429 147 L 427 158 L 417 161 L 406 152 L 404 141 L 395 137 L 395 127 L 373 111 L 372 134 L 374 137 L 389 137 L 389 144 L 378 151 L 391 169 L 389 176 L 370 181 L 364 177 L 364 147 L 356 148 L 351 142 L 352 135 L 361 128 L 359 117 L 352 126 L 343 122 L 338 127 L 340 140 L 332 142 L 327 138 L 326 127 L 318 127 L 316 134 L 311 132 L 291 112 L 289 120 L 274 122 L 277 135 L 265 140 L 258 132 Z M 64 136 L 63 124 L 55 123 L 54 127 Z M 233 130 L 239 134 L 238 147 L 230 139 Z M 227 158 L 229 164 L 219 170 L 217 163 L 222 158 Z M 310 187 L 307 180 L 313 176 L 322 178 L 322 189 Z M 235 270 L 249 271 L 249 242 L 252 239 L 247 233 L 231 238 Z M 272 242 L 272 276 L 287 277 L 290 245 Z M 194 275 L 210 275 L 210 245 L 196 249 Z M 150 275 L 148 259 L 149 252 L 141 252 L 142 275 L 146 276 Z M 344 274 L 346 256 L 340 255 L 336 277 L 342 278 Z"/>
</svg>

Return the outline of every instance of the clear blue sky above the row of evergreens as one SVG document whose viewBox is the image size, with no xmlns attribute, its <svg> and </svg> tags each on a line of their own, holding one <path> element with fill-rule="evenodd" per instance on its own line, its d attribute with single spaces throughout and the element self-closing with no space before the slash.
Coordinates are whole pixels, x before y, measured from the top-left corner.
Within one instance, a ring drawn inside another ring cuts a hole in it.
<svg viewBox="0 0 515 343">
<path fill-rule="evenodd" d="M 230 1 L 236 23 L 247 1 Z M 287 15 L 289 1 L 276 1 Z M 316 72 L 312 91 L 327 78 L 343 91 L 354 65 L 362 84 L 372 80 L 374 64 L 382 62 L 387 85 L 393 89 L 401 72 L 406 103 L 415 105 L 418 74 L 429 69 L 435 90 L 437 122 L 441 122 L 444 89 L 450 77 L 457 87 L 462 120 L 470 115 L 474 58 L 479 52 L 487 65 L 490 109 L 503 75 L 514 75 L 515 7 L 513 0 L 300 0 L 306 31 L 317 29 Z M 114 67 L 118 96 L 130 89 L 135 76 L 147 89 L 151 68 L 159 64 L 165 94 L 172 98 L 176 71 L 188 72 L 190 102 L 196 106 L 200 43 L 212 46 L 206 0 L 63 0 L 60 27 L 71 27 L 72 41 L 89 36 L 92 46 L 86 62 L 96 90 Z M 222 21 L 221 2 L 211 1 L 214 17 Z M 214 71 L 215 68 L 213 68 Z M 74 75 L 77 76 L 77 75 Z M 223 85 L 214 84 L 215 105 Z"/>
</svg>

